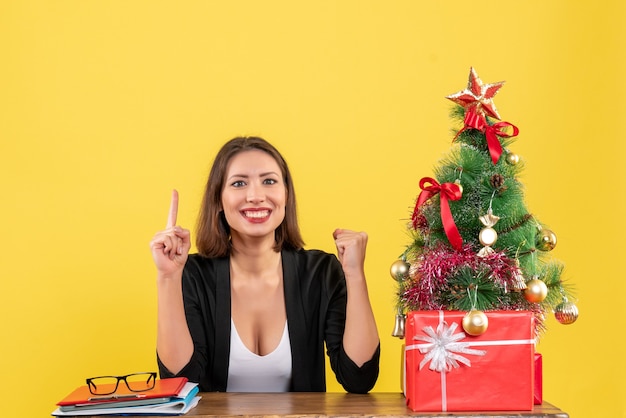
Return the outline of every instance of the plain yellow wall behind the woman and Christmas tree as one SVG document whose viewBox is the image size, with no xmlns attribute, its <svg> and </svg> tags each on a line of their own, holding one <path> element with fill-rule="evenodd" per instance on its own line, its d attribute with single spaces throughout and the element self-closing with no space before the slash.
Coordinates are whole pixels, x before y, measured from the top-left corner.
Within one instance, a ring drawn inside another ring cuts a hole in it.
<svg viewBox="0 0 626 418">
<path fill-rule="evenodd" d="M 47 416 L 85 377 L 155 369 L 148 242 L 172 188 L 194 227 L 212 158 L 239 134 L 287 158 L 308 248 L 369 233 L 375 390 L 399 390 L 389 266 L 450 149 L 444 97 L 474 66 L 506 81 L 495 103 L 520 128 L 527 204 L 579 297 L 579 320 L 551 318 L 539 344 L 544 397 L 626 417 L 623 4 L 3 1 L 1 415 Z"/>
</svg>

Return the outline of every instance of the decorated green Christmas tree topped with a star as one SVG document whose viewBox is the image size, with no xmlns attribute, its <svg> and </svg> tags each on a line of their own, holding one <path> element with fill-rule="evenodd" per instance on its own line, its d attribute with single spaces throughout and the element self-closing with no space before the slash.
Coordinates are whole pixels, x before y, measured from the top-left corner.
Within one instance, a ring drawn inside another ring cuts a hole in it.
<svg viewBox="0 0 626 418">
<path fill-rule="evenodd" d="M 408 311 L 467 311 L 472 335 L 486 329 L 485 311 L 531 311 L 537 337 L 549 312 L 563 324 L 578 317 L 564 266 L 549 257 L 556 235 L 524 203 L 523 162 L 509 149 L 519 130 L 500 121 L 493 101 L 503 84 L 483 84 L 472 68 L 467 88 L 447 96 L 460 129 L 434 178 L 419 182 L 411 242 L 391 266 L 394 336 L 404 336 Z"/>
</svg>

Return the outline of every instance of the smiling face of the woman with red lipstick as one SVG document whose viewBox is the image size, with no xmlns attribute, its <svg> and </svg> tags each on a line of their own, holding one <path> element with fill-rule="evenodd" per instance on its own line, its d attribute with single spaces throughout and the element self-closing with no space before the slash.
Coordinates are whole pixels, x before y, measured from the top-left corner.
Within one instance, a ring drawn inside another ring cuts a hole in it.
<svg viewBox="0 0 626 418">
<path fill-rule="evenodd" d="M 285 219 L 287 191 L 278 163 L 266 152 L 235 155 L 226 169 L 222 209 L 235 237 L 270 237 Z"/>
</svg>

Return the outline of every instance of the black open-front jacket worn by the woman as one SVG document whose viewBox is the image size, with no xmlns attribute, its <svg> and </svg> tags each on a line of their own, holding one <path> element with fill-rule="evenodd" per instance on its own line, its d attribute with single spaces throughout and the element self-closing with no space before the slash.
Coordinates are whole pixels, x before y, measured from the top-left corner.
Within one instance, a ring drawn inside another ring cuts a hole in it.
<svg viewBox="0 0 626 418">
<path fill-rule="evenodd" d="M 339 260 L 318 250 L 283 250 L 282 264 L 291 391 L 326 391 L 324 343 L 343 388 L 353 393 L 370 391 L 378 378 L 380 344 L 361 367 L 343 349 L 346 281 Z M 185 376 L 199 383 L 201 391 L 226 391 L 231 329 L 229 258 L 191 254 L 183 271 L 183 298 L 194 353 L 177 375 L 157 358 L 161 377 Z"/>
</svg>

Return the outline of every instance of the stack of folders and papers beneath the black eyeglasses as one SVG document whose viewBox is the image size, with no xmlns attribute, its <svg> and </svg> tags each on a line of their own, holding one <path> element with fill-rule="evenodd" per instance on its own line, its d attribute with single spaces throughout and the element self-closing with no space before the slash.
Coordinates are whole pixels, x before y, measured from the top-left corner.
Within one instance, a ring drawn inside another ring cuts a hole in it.
<svg viewBox="0 0 626 418">
<path fill-rule="evenodd" d="M 144 392 L 120 387 L 108 396 L 94 396 L 85 385 L 58 402 L 52 415 L 183 415 L 198 404 L 197 394 L 198 384 L 184 377 L 157 380 L 153 389 Z"/>
</svg>

